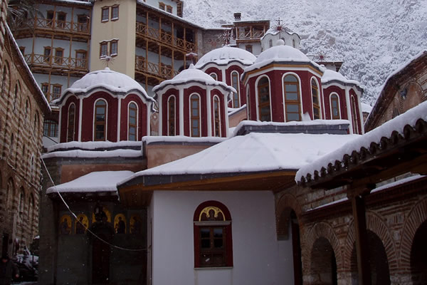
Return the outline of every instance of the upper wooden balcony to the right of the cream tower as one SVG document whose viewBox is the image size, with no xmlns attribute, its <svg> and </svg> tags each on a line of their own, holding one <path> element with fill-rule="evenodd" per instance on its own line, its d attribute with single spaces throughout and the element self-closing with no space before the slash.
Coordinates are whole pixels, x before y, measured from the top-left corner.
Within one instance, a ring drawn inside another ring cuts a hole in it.
<svg viewBox="0 0 427 285">
<path fill-rule="evenodd" d="M 166 46 L 178 48 L 184 52 L 196 51 L 196 44 L 186 41 L 182 38 L 176 38 L 173 33 L 169 31 L 151 28 L 144 23 L 137 22 L 136 26 L 137 37 L 149 38 L 152 41 L 161 42 Z"/>
</svg>

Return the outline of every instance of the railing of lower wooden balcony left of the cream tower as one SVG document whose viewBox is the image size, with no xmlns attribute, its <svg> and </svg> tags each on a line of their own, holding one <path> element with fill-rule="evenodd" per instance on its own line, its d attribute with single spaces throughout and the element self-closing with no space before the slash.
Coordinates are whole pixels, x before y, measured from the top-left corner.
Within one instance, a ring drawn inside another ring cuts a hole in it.
<svg viewBox="0 0 427 285">
<path fill-rule="evenodd" d="M 28 65 L 46 66 L 51 68 L 72 69 L 79 71 L 88 70 L 88 60 L 82 58 L 65 58 L 60 56 L 44 56 L 43 54 L 26 54 L 24 56 Z"/>
</svg>

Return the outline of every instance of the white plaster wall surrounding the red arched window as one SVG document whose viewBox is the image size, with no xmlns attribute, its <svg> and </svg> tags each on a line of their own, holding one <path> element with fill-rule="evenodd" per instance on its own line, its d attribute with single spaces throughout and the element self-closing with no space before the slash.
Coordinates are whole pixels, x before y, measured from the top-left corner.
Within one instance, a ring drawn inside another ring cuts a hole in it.
<svg viewBox="0 0 427 285">
<path fill-rule="evenodd" d="M 194 269 L 194 211 L 208 200 L 231 212 L 233 268 Z M 293 284 L 292 239 L 277 241 L 271 192 L 154 192 L 150 207 L 152 284 Z"/>
</svg>

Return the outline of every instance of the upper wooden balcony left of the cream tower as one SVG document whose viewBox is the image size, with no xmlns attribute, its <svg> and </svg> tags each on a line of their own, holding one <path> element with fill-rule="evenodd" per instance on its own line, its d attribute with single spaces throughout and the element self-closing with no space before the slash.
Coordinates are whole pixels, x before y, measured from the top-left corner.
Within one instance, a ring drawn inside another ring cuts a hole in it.
<svg viewBox="0 0 427 285">
<path fill-rule="evenodd" d="M 73 21 L 57 21 L 56 19 L 40 19 L 35 18 L 28 20 L 25 26 L 18 28 L 17 38 L 23 38 L 33 32 L 40 36 L 42 33 L 46 36 L 53 35 L 55 37 L 80 36 L 84 38 L 90 37 L 90 21 L 86 23 L 75 23 Z"/>
</svg>

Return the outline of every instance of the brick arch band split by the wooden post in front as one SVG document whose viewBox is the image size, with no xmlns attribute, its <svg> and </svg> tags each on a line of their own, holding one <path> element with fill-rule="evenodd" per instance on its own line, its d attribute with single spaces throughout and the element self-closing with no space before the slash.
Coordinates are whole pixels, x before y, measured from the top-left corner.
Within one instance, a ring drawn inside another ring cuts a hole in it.
<svg viewBox="0 0 427 285">
<path fill-rule="evenodd" d="M 381 242 L 384 245 L 386 250 L 387 260 L 389 261 L 389 270 L 390 272 L 393 269 L 397 269 L 397 254 L 396 254 L 396 244 L 391 237 L 391 233 L 384 223 L 379 214 L 376 214 L 371 211 L 367 211 L 367 229 L 376 234 Z M 354 220 L 349 222 L 349 232 L 347 233 L 347 239 L 344 244 L 344 270 L 351 271 L 351 258 L 354 242 L 356 242 L 356 237 L 354 233 Z"/>
</svg>

